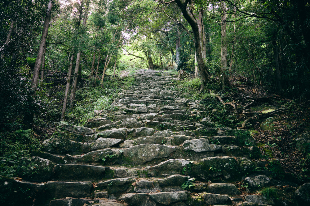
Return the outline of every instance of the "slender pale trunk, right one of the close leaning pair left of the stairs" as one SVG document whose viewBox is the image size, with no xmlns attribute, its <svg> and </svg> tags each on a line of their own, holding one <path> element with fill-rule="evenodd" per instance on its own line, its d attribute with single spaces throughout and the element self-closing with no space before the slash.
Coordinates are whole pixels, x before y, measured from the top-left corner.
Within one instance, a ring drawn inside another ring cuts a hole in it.
<svg viewBox="0 0 310 206">
<path fill-rule="evenodd" d="M 80 10 L 80 15 L 82 15 L 82 11 L 83 11 L 83 1 L 81 1 L 81 10 Z M 86 25 L 86 21 L 87 21 L 87 12 L 86 12 L 86 16 L 83 19 L 83 26 Z M 79 26 L 80 23 L 78 23 Z M 73 77 L 73 84 L 71 87 L 71 94 L 70 94 L 70 108 L 72 108 L 74 106 L 74 98 L 75 98 L 75 92 L 77 89 L 77 84 L 78 84 L 78 73 L 79 73 L 79 69 L 80 69 L 80 61 L 81 61 L 81 53 L 82 53 L 82 49 L 79 48 L 78 49 L 78 54 L 77 54 L 77 59 L 75 62 L 75 69 L 74 69 L 74 77 Z"/>
</svg>

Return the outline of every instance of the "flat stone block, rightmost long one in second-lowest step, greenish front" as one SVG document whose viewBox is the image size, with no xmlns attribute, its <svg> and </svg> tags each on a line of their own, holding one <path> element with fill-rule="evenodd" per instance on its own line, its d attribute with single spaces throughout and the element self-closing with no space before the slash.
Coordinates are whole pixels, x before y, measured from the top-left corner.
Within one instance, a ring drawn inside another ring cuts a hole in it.
<svg viewBox="0 0 310 206">
<path fill-rule="evenodd" d="M 207 186 L 206 191 L 208 193 L 222 194 L 222 195 L 240 195 L 241 192 L 234 184 L 227 183 L 211 183 Z"/>
</svg>

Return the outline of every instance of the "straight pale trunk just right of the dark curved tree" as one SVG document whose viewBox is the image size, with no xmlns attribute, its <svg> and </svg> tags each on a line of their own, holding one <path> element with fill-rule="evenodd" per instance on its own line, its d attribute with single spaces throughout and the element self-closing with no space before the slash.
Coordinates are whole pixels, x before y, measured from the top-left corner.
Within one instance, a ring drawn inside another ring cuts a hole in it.
<svg viewBox="0 0 310 206">
<path fill-rule="evenodd" d="M 227 77 L 225 74 L 225 69 L 227 68 L 227 43 L 226 43 L 226 3 L 220 3 L 221 10 L 222 10 L 222 17 L 221 17 L 221 69 L 219 74 L 219 83 L 222 89 L 225 86 L 229 85 L 227 81 Z"/>
</svg>

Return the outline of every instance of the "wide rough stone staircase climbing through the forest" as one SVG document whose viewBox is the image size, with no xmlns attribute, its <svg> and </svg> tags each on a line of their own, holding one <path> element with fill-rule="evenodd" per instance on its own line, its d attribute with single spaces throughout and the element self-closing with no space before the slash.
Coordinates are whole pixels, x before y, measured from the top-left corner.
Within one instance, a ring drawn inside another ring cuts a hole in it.
<svg viewBox="0 0 310 206">
<path fill-rule="evenodd" d="M 227 135 L 230 128 L 213 127 L 209 100 L 183 98 L 172 79 L 138 70 L 114 100 L 115 112 L 86 127 L 60 124 L 58 135 L 20 162 L 19 180 L 2 177 L 5 205 L 291 205 L 239 196 L 243 179 L 249 189 L 271 184 L 268 171 L 255 171 L 268 162 L 254 159 L 251 137 L 253 146 L 244 146 Z"/>
</svg>

